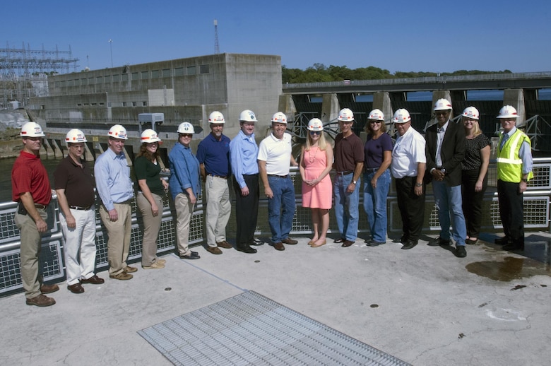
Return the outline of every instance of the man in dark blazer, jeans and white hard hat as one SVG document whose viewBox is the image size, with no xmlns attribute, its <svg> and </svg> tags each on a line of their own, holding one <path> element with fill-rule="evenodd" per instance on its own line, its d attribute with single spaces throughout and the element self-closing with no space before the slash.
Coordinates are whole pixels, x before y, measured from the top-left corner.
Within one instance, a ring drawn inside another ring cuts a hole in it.
<svg viewBox="0 0 551 366">
<path fill-rule="evenodd" d="M 451 237 L 456 242 L 456 256 L 463 258 L 467 256 L 467 230 L 461 199 L 461 160 L 465 157 L 465 131 L 463 126 L 449 119 L 451 102 L 448 100 L 437 100 L 434 114 L 438 123 L 427 129 L 425 140 L 427 172 L 432 179 L 432 191 L 441 230 L 439 237 L 428 244 L 450 244 L 451 218 Z"/>
</svg>

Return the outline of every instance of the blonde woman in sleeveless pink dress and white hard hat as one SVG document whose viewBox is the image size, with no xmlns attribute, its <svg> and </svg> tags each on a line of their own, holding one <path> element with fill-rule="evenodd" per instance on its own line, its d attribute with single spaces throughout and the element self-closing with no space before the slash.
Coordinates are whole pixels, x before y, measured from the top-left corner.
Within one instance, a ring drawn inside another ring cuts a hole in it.
<svg viewBox="0 0 551 366">
<path fill-rule="evenodd" d="M 308 122 L 306 145 L 300 154 L 302 177 L 302 207 L 312 208 L 314 237 L 308 245 L 315 248 L 326 244 L 329 228 L 332 187 L 329 172 L 333 166 L 333 148 L 325 141 L 324 125 L 317 118 Z"/>
</svg>

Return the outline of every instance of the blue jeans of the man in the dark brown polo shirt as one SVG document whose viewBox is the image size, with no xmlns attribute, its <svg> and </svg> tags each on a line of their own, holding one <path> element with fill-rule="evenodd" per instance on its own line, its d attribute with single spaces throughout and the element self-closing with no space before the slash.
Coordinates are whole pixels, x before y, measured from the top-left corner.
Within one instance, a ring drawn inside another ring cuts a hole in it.
<svg viewBox="0 0 551 366">
<path fill-rule="evenodd" d="M 360 179 L 357 179 L 356 188 L 352 193 L 348 193 L 346 188 L 352 182 L 352 177 L 354 177 L 354 173 L 336 175 L 333 185 L 338 231 L 340 237 L 351 242 L 357 237 L 358 205 L 360 203 L 360 187 L 362 187 Z"/>
</svg>

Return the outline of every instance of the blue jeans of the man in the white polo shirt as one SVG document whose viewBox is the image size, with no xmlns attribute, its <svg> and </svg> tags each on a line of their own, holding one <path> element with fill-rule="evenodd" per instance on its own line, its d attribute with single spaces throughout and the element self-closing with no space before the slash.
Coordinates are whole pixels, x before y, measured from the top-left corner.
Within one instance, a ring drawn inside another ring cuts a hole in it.
<svg viewBox="0 0 551 366">
<path fill-rule="evenodd" d="M 291 177 L 268 176 L 268 184 L 273 198 L 268 199 L 268 223 L 272 232 L 272 242 L 278 243 L 289 237 L 292 218 L 295 216 L 295 187 Z"/>
</svg>

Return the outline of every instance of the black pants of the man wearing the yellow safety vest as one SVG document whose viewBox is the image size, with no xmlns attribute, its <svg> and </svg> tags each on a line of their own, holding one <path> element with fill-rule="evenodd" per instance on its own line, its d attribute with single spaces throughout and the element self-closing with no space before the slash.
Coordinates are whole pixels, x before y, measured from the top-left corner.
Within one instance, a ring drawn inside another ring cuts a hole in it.
<svg viewBox="0 0 551 366">
<path fill-rule="evenodd" d="M 503 232 L 513 244 L 524 245 L 524 211 L 520 183 L 497 180 L 499 216 L 502 218 Z"/>
</svg>

